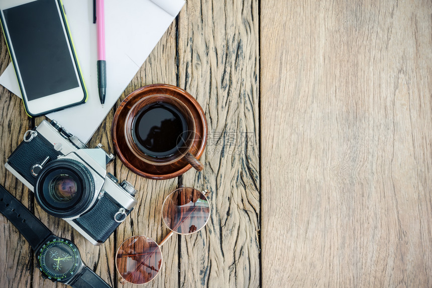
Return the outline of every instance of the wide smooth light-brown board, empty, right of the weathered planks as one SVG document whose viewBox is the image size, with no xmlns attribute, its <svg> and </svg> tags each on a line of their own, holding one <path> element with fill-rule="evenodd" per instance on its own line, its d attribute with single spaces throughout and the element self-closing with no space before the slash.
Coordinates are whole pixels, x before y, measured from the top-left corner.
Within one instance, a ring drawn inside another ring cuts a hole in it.
<svg viewBox="0 0 432 288">
<path fill-rule="evenodd" d="M 261 2 L 264 286 L 432 285 L 431 14 Z"/>
</svg>

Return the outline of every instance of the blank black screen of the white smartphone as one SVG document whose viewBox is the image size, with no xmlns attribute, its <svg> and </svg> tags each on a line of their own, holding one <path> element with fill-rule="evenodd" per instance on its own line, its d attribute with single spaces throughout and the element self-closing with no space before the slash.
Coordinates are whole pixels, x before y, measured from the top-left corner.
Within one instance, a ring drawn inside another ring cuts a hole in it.
<svg viewBox="0 0 432 288">
<path fill-rule="evenodd" d="M 3 11 L 29 101 L 79 87 L 55 0 Z"/>
</svg>

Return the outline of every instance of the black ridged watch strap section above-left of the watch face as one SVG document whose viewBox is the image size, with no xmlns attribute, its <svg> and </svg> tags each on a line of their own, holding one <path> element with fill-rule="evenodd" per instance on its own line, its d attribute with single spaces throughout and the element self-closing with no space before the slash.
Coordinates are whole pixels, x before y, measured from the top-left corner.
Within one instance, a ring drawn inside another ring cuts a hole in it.
<svg viewBox="0 0 432 288">
<path fill-rule="evenodd" d="M 0 185 L 0 212 L 17 227 L 34 251 L 52 235 L 47 226 L 2 185 Z"/>
</svg>

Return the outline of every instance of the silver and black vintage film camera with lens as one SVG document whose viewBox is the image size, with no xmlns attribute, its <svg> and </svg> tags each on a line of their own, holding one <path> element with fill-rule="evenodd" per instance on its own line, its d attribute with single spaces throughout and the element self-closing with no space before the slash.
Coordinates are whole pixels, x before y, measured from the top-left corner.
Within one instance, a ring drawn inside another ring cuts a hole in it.
<svg viewBox="0 0 432 288">
<path fill-rule="evenodd" d="M 42 209 L 93 245 L 105 242 L 137 204 L 135 188 L 106 173 L 114 156 L 101 147 L 88 149 L 58 122 L 43 120 L 25 133 L 5 164 Z"/>
</svg>

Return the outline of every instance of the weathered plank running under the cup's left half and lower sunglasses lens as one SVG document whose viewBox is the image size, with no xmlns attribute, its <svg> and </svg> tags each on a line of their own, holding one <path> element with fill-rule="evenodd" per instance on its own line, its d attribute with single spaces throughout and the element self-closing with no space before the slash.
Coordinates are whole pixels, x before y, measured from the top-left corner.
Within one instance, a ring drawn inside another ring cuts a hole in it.
<svg viewBox="0 0 432 288">
<path fill-rule="evenodd" d="M 177 22 L 174 21 L 120 97 L 118 104 L 132 91 L 149 84 L 176 85 L 176 27 Z M 157 181 L 145 179 L 132 173 L 118 159 L 116 177 L 120 180 L 126 179 L 135 186 L 138 190 L 138 204 L 130 217 L 117 229 L 114 253 L 124 240 L 135 235 L 145 235 L 159 243 L 168 233 L 161 217 L 162 204 L 170 191 L 176 188 L 177 178 Z M 146 284 L 148 287 L 178 286 L 178 244 L 175 237 L 162 246 L 162 253 L 164 264 L 156 278 Z M 116 277 L 116 284 L 121 286 L 117 270 Z M 135 285 L 126 284 L 124 287 L 133 288 Z"/>
</svg>

